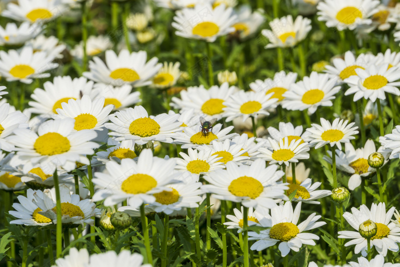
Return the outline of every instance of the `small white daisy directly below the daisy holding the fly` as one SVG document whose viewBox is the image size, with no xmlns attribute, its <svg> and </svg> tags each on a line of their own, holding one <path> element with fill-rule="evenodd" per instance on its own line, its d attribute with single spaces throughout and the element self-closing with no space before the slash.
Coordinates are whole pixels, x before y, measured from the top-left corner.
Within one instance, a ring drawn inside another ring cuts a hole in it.
<svg viewBox="0 0 400 267">
<path fill-rule="evenodd" d="M 218 161 L 221 159 L 218 155 L 211 155 L 211 150 L 200 150 L 187 149 L 187 154 L 179 152 L 182 158 L 176 159 L 175 169 L 178 171 L 190 172 L 193 174 L 205 174 L 213 172 L 217 169 L 222 169 L 225 166 L 222 162 Z"/>
</svg>

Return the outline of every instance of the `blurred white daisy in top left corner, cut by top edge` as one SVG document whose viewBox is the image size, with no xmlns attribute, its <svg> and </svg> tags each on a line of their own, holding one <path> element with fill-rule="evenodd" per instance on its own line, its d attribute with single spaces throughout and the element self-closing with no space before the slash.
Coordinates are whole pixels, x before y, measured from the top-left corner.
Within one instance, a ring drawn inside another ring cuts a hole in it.
<svg viewBox="0 0 400 267">
<path fill-rule="evenodd" d="M 1 16 L 34 23 L 54 20 L 66 11 L 59 0 L 17 0 L 17 3 L 9 3 Z"/>
</svg>

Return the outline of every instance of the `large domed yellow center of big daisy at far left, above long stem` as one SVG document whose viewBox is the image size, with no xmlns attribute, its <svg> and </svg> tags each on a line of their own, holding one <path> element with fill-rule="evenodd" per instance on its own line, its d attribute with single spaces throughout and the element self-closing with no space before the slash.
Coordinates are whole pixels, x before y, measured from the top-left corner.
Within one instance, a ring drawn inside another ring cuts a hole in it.
<svg viewBox="0 0 400 267">
<path fill-rule="evenodd" d="M 69 151 L 71 145 L 68 138 L 59 133 L 46 133 L 37 137 L 33 148 L 42 156 L 52 156 Z"/>
</svg>

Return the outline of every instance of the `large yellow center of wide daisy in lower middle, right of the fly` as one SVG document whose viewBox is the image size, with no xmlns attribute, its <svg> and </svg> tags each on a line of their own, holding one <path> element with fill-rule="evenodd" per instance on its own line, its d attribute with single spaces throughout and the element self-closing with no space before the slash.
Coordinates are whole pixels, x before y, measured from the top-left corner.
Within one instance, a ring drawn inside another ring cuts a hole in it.
<svg viewBox="0 0 400 267">
<path fill-rule="evenodd" d="M 241 176 L 230 182 L 228 190 L 235 196 L 255 199 L 262 193 L 264 187 L 252 177 Z"/>
</svg>

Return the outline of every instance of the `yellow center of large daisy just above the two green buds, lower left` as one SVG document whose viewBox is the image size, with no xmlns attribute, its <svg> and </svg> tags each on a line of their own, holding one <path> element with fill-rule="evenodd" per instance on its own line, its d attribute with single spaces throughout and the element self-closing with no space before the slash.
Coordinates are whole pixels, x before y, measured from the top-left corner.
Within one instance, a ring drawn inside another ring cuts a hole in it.
<svg viewBox="0 0 400 267">
<path fill-rule="evenodd" d="M 127 177 L 121 185 L 122 191 L 128 194 L 145 194 L 157 186 L 157 181 L 147 174 L 133 174 Z"/>
</svg>

